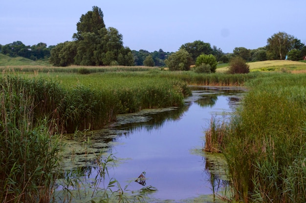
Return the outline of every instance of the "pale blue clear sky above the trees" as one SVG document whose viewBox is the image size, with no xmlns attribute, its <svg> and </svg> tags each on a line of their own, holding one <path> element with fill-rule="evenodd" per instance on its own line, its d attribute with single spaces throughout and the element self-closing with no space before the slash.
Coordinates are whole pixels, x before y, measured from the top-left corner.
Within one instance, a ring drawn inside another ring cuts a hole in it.
<svg viewBox="0 0 306 203">
<path fill-rule="evenodd" d="M 131 50 L 175 52 L 200 40 L 231 53 L 265 46 L 280 31 L 306 44 L 305 0 L 1 0 L 0 45 L 72 41 L 92 6 Z"/>
</svg>

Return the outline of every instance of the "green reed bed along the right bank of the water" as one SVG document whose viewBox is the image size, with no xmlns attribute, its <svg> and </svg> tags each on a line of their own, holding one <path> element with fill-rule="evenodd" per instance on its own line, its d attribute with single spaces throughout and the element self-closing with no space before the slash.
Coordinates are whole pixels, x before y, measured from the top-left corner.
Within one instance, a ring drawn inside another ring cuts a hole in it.
<svg viewBox="0 0 306 203">
<path fill-rule="evenodd" d="M 247 86 L 221 145 L 235 199 L 306 202 L 306 75 L 274 73 Z"/>
</svg>

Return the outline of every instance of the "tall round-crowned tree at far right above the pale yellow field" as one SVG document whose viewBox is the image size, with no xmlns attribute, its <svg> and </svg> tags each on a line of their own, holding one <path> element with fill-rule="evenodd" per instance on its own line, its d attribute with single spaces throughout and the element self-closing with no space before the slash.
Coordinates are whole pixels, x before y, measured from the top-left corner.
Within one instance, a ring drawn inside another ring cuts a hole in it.
<svg viewBox="0 0 306 203">
<path fill-rule="evenodd" d="M 266 49 L 269 52 L 269 59 L 283 60 L 288 51 L 290 51 L 294 46 L 294 37 L 288 35 L 285 32 L 278 32 L 267 39 Z"/>
</svg>

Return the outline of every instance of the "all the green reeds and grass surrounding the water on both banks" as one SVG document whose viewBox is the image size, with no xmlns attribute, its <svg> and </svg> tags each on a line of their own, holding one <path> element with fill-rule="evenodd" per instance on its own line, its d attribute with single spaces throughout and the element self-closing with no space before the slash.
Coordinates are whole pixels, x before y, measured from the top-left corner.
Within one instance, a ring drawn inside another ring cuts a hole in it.
<svg viewBox="0 0 306 203">
<path fill-rule="evenodd" d="M 262 68 L 271 67 L 266 65 Z M 119 113 L 182 106 L 191 93 L 188 85 L 203 85 L 249 89 L 231 121 L 212 121 L 210 129 L 215 152 L 227 160 L 234 199 L 306 202 L 306 76 L 290 74 L 286 66 L 303 69 L 281 64 L 273 71 L 230 75 L 219 68 L 197 74 L 148 67 L 2 66 L 0 200 L 50 202 L 62 173 L 54 171 L 65 133 L 100 129 Z"/>
</svg>

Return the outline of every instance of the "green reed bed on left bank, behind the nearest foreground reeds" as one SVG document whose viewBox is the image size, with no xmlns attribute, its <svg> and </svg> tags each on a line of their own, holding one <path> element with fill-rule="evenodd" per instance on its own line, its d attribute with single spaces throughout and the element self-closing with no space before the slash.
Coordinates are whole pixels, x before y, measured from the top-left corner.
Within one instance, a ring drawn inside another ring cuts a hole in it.
<svg viewBox="0 0 306 203">
<path fill-rule="evenodd" d="M 190 93 L 187 84 L 164 80 L 150 73 L 117 72 L 103 74 L 40 73 L 2 77 L 10 86 L 22 86 L 33 100 L 34 122 L 53 120 L 59 132 L 101 129 L 118 113 L 145 108 L 182 106 Z"/>
</svg>

